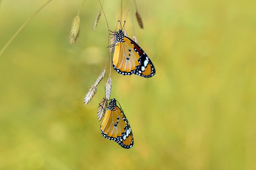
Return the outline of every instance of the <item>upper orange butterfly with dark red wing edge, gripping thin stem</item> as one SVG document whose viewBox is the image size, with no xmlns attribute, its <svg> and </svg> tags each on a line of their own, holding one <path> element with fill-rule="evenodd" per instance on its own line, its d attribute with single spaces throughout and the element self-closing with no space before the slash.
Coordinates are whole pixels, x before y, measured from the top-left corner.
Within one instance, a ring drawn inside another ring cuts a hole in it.
<svg viewBox="0 0 256 170">
<path fill-rule="evenodd" d="M 116 44 L 110 46 L 115 46 L 112 61 L 114 70 L 122 75 L 136 74 L 145 78 L 154 76 L 156 69 L 148 55 L 136 42 L 125 36 L 122 29 L 117 32 L 111 31 L 112 33 L 116 33 L 114 34 L 116 35 Z"/>
</svg>

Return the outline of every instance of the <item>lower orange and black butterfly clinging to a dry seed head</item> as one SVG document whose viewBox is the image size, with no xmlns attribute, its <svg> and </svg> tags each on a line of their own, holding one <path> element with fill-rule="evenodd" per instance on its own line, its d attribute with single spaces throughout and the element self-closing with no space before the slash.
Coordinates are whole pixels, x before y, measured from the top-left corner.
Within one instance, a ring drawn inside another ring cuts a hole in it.
<svg viewBox="0 0 256 170">
<path fill-rule="evenodd" d="M 116 99 L 111 99 L 108 110 L 101 122 L 100 129 L 103 137 L 115 141 L 123 148 L 130 149 L 133 146 L 132 129 L 124 115 L 122 107 L 116 105 Z"/>
</svg>

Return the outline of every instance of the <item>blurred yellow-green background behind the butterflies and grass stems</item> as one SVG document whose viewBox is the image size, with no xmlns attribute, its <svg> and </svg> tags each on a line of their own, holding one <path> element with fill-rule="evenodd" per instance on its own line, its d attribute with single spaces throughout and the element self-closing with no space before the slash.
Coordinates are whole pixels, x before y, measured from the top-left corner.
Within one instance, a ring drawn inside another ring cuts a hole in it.
<svg viewBox="0 0 256 170">
<path fill-rule="evenodd" d="M 45 2 L 2 1 L 0 48 Z M 0 169 L 256 169 L 255 1 L 137 1 L 145 29 L 128 2 L 156 67 L 147 79 L 111 67 L 111 98 L 132 127 L 130 150 L 100 133 L 106 78 L 83 104 L 105 67 L 108 27 L 102 14 L 92 32 L 100 5 L 88 0 L 70 45 L 81 3 L 52 1 L 0 56 Z M 120 1 L 103 8 L 115 30 Z M 130 14 L 125 28 L 132 37 Z"/>
</svg>

